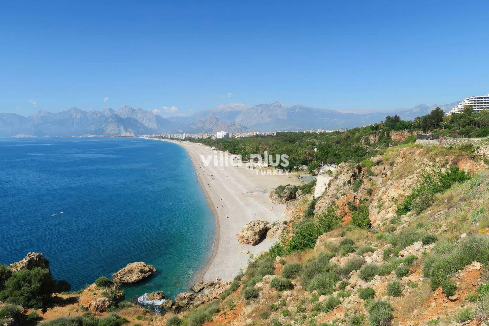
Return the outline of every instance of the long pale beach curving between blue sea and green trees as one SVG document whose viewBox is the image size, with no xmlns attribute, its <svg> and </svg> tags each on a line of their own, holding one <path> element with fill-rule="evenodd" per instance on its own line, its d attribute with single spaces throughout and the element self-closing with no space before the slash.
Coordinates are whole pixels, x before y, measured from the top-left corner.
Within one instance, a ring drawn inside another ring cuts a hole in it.
<svg viewBox="0 0 489 326">
<path fill-rule="evenodd" d="M 214 154 L 216 151 L 211 147 L 193 142 L 164 141 L 176 143 L 187 150 L 206 192 L 209 206 L 216 216 L 216 242 L 212 258 L 202 273 L 204 282 L 215 280 L 216 277 L 222 280 L 234 278 L 241 268 L 245 269 L 249 259 L 248 255 L 240 252 L 249 251 L 257 256 L 277 240 L 274 237 L 256 246 L 243 245 L 239 244 L 236 234 L 245 224 L 254 220 L 288 220 L 289 216 L 284 215 L 285 204 L 270 203 L 268 195 L 270 190 L 279 185 L 299 185 L 299 181 L 286 174 L 262 175 L 260 169 L 245 166 L 215 166 L 213 161 L 204 166 L 200 155 L 206 157 Z"/>
</svg>

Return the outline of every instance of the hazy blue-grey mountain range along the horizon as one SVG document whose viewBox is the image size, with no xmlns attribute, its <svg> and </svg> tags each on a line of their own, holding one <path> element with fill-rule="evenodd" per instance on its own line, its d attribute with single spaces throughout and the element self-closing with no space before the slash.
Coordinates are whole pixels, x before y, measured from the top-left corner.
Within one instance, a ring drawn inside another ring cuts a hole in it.
<svg viewBox="0 0 489 326">
<path fill-rule="evenodd" d="M 411 109 L 390 113 L 341 113 L 280 102 L 247 106 L 239 103 L 222 104 L 201 110 L 192 116 L 164 118 L 151 111 L 124 105 L 114 111 L 83 111 L 72 108 L 59 113 L 39 111 L 32 116 L 0 113 L 0 137 L 16 135 L 81 136 L 81 135 L 144 135 L 165 133 L 214 133 L 217 131 L 304 131 L 306 129 L 353 128 L 383 121 L 387 115 L 399 115 L 404 120 L 423 116 L 436 107 L 445 112 L 458 102 L 428 106 L 420 104 Z"/>
</svg>

